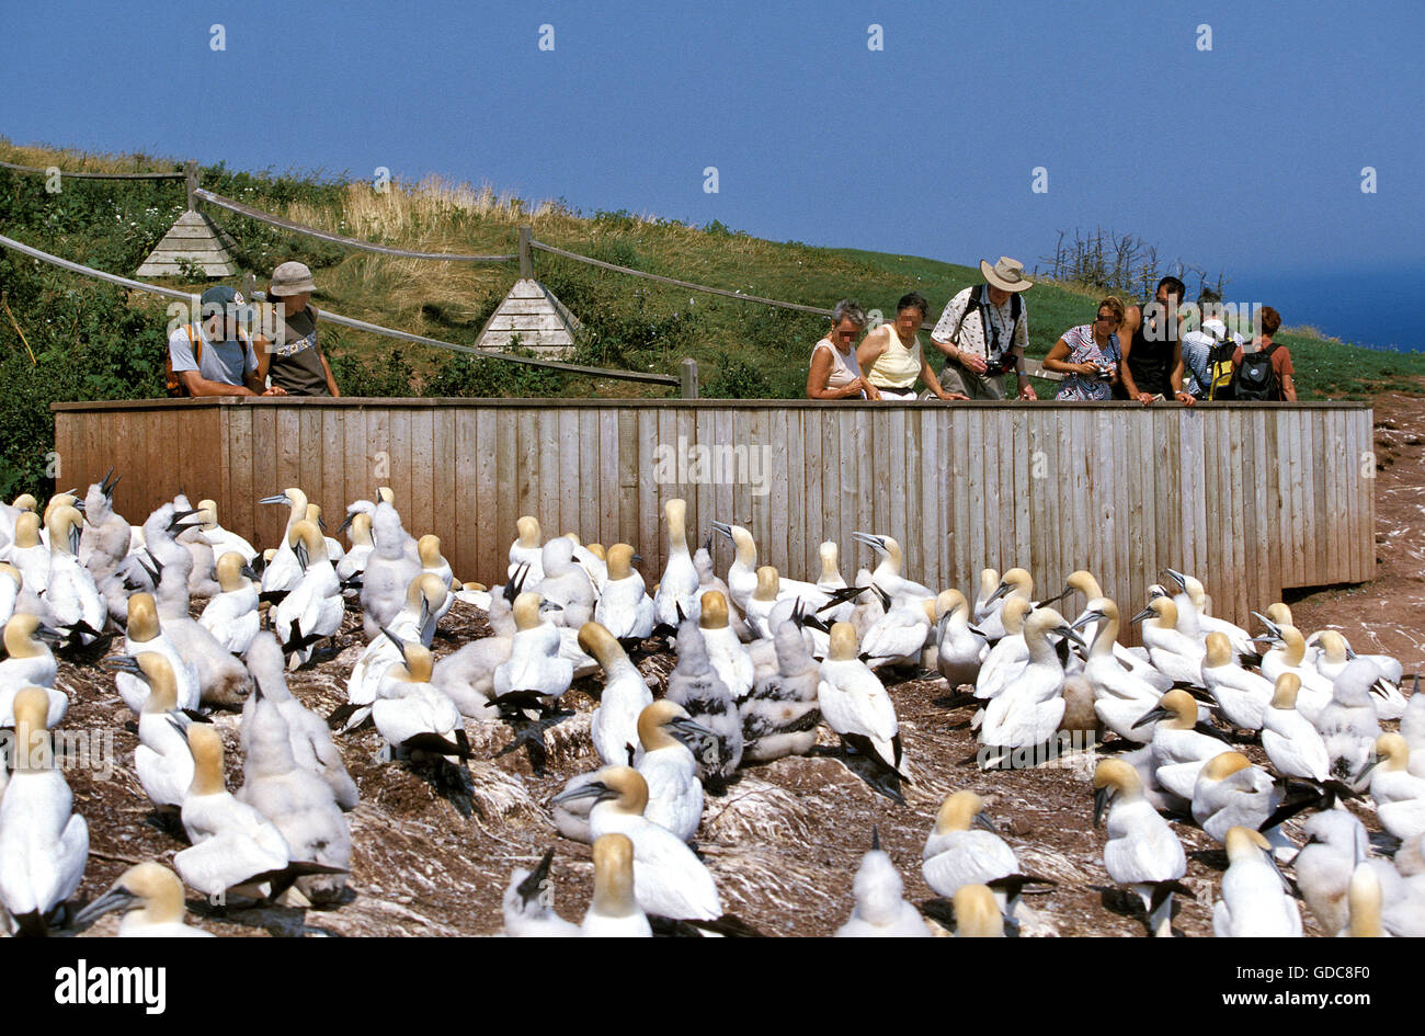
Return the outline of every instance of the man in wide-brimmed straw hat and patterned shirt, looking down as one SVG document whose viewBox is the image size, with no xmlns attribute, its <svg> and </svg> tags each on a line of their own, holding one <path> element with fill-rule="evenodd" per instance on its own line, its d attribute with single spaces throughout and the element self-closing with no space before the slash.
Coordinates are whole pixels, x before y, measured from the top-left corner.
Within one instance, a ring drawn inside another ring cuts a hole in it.
<svg viewBox="0 0 1425 1036">
<path fill-rule="evenodd" d="M 940 388 L 970 399 L 1005 399 L 1005 375 L 1015 372 L 1020 399 L 1037 399 L 1025 375 L 1029 312 L 1022 292 L 1033 286 L 1025 264 L 1002 255 L 993 266 L 980 259 L 985 284 L 952 298 L 931 332 L 945 353 Z"/>
</svg>

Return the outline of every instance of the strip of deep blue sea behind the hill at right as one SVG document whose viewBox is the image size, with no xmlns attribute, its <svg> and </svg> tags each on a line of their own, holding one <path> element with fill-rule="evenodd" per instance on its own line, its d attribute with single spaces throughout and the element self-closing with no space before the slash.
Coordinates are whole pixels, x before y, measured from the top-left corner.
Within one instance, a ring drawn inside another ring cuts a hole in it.
<svg viewBox="0 0 1425 1036">
<path fill-rule="evenodd" d="M 1425 352 L 1425 264 L 1265 276 L 1228 271 L 1224 294 L 1230 302 L 1274 308 L 1288 328 L 1308 325 L 1342 342 Z"/>
</svg>

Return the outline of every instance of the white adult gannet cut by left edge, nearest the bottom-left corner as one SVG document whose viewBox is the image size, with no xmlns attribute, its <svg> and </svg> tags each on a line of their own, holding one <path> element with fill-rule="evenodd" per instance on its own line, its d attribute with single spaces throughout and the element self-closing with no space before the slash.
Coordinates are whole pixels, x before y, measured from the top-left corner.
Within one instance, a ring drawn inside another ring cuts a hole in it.
<svg viewBox="0 0 1425 1036">
<path fill-rule="evenodd" d="M 14 771 L 0 799 L 0 903 L 27 933 L 44 933 L 44 919 L 74 895 L 88 859 L 88 825 L 54 765 L 48 707 L 37 687 L 14 697 Z"/>
</svg>

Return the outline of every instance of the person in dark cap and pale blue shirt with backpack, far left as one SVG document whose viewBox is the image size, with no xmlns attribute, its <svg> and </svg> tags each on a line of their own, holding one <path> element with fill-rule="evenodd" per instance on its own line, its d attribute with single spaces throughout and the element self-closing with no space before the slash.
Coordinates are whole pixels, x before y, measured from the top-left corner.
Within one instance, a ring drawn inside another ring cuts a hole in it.
<svg viewBox="0 0 1425 1036">
<path fill-rule="evenodd" d="M 248 336 L 252 306 L 225 284 L 202 294 L 198 319 L 168 336 L 170 396 L 282 396 L 258 375 Z"/>
</svg>

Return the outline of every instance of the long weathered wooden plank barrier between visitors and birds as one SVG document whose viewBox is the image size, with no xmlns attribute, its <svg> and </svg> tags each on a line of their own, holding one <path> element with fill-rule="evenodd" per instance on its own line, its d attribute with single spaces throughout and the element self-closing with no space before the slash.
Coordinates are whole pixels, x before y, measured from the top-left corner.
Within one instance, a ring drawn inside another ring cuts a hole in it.
<svg viewBox="0 0 1425 1036">
<path fill-rule="evenodd" d="M 286 513 L 261 497 L 299 486 L 335 529 L 349 500 L 389 485 L 406 529 L 437 533 L 456 574 L 487 584 L 529 513 L 546 536 L 633 543 L 651 586 L 671 496 L 688 502 L 694 544 L 714 519 L 745 524 L 760 561 L 798 579 L 817 577 L 826 539 L 848 580 L 871 564 L 851 540 L 859 529 L 895 536 L 908 574 L 970 599 L 985 566 L 1026 567 L 1045 596 L 1087 567 L 1126 616 L 1167 566 L 1197 574 L 1214 611 L 1240 623 L 1282 587 L 1375 570 L 1364 403 L 279 398 L 54 410 L 58 482 L 115 466 L 131 522 L 182 489 L 272 546 Z M 698 470 L 700 446 L 724 463 Z M 715 550 L 724 571 L 725 540 Z"/>
</svg>

